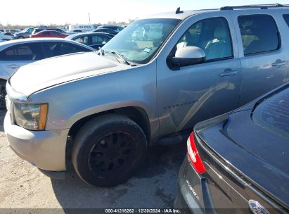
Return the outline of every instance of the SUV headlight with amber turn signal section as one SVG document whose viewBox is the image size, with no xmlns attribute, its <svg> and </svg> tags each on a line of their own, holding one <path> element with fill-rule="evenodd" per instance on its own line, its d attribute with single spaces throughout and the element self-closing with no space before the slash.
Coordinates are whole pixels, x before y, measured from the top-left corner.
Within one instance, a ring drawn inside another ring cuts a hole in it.
<svg viewBox="0 0 289 214">
<path fill-rule="evenodd" d="M 27 130 L 44 130 L 48 112 L 44 104 L 14 104 L 15 122 Z"/>
</svg>

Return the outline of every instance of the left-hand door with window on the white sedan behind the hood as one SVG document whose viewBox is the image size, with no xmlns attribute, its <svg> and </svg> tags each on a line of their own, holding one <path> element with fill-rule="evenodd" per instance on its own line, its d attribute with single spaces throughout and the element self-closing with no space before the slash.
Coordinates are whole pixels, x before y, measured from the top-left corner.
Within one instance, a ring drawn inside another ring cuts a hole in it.
<svg viewBox="0 0 289 214">
<path fill-rule="evenodd" d="M 20 66 L 44 58 L 40 42 L 17 44 L 0 52 L 0 69 L 12 75 Z"/>
</svg>

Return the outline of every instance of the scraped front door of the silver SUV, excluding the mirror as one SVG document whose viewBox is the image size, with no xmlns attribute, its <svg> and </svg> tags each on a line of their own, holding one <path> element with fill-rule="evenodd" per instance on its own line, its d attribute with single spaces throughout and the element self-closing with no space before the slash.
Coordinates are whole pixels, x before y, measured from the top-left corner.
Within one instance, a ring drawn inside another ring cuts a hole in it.
<svg viewBox="0 0 289 214">
<path fill-rule="evenodd" d="M 174 34 L 178 39 L 167 56 L 174 56 L 176 49 L 184 46 L 198 46 L 206 53 L 204 63 L 172 70 L 164 62 L 167 56 L 158 58 L 161 135 L 192 130 L 196 122 L 238 106 L 240 60 L 238 49 L 233 46 L 236 44 L 233 23 L 229 20 L 227 11 L 210 18 L 195 15 L 180 26 L 184 29 L 181 35 Z"/>
</svg>

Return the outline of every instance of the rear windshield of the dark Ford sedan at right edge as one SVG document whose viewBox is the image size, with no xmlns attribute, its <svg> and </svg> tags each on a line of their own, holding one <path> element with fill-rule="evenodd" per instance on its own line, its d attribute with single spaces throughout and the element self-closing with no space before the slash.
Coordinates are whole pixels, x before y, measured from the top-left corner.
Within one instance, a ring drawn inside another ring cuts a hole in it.
<svg viewBox="0 0 289 214">
<path fill-rule="evenodd" d="M 289 139 L 289 88 L 260 103 L 252 118 L 265 129 Z"/>
</svg>

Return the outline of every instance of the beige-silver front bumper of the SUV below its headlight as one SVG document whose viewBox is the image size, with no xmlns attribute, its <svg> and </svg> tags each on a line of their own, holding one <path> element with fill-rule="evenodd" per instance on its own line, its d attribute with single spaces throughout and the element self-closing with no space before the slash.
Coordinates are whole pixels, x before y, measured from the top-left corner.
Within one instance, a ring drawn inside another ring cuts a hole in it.
<svg viewBox="0 0 289 214">
<path fill-rule="evenodd" d="M 66 170 L 65 147 L 69 130 L 25 130 L 11 124 L 10 113 L 6 113 L 4 130 L 11 149 L 20 158 L 41 170 L 54 172 Z"/>
</svg>

